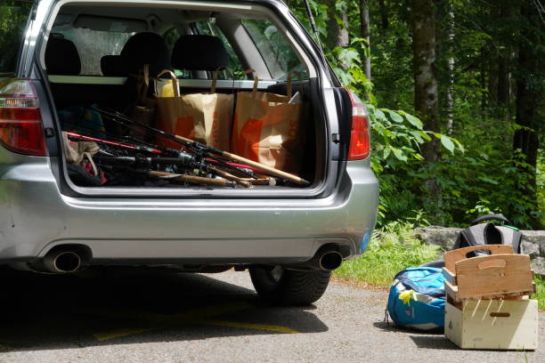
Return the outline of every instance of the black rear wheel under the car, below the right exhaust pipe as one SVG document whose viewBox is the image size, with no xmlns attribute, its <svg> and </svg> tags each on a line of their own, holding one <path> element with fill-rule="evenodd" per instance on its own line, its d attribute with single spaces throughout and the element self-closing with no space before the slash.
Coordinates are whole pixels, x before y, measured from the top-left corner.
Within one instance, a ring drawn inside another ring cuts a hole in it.
<svg viewBox="0 0 545 363">
<path fill-rule="evenodd" d="M 309 305 L 321 298 L 331 272 L 297 271 L 276 266 L 273 270 L 250 268 L 250 278 L 262 299 L 279 305 Z"/>
</svg>

